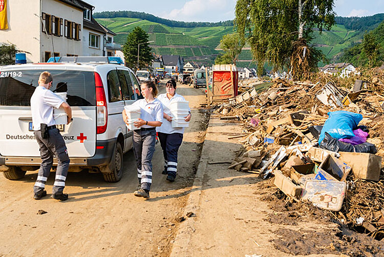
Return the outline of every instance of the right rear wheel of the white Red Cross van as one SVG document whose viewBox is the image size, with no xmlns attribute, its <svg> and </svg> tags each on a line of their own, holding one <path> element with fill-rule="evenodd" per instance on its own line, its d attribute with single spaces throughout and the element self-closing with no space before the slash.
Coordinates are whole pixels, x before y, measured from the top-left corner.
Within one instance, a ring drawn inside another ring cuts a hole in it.
<svg viewBox="0 0 384 257">
<path fill-rule="evenodd" d="M 106 167 L 101 168 L 106 182 L 118 182 L 123 176 L 123 149 L 121 144 L 116 142 L 114 155 Z"/>
</svg>

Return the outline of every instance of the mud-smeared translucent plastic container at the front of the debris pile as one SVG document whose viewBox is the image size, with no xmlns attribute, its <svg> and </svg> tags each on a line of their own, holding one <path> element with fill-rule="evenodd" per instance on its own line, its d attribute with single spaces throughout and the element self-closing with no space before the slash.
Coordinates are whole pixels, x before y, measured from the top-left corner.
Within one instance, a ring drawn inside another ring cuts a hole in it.
<svg viewBox="0 0 384 257">
<path fill-rule="evenodd" d="M 342 208 L 346 183 L 340 181 L 308 180 L 305 182 L 302 200 L 309 200 L 314 206 L 339 211 Z"/>
</svg>

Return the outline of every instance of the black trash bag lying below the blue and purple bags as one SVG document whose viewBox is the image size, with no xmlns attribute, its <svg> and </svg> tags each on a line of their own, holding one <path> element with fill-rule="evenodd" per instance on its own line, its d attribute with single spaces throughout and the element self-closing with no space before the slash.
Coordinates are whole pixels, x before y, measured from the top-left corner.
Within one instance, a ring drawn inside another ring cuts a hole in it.
<svg viewBox="0 0 384 257">
<path fill-rule="evenodd" d="M 362 143 L 359 145 L 351 145 L 334 139 L 327 132 L 325 132 L 325 137 L 320 148 L 333 151 L 333 152 L 367 152 L 375 154 L 377 152 L 375 145 L 371 143 Z"/>
</svg>

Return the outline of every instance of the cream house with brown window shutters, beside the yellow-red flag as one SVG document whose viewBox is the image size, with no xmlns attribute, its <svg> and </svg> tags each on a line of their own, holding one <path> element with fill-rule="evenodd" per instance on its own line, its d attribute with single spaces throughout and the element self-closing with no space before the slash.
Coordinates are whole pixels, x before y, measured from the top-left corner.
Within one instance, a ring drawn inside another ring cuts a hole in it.
<svg viewBox="0 0 384 257">
<path fill-rule="evenodd" d="M 28 62 L 51 56 L 81 55 L 83 7 L 70 0 L 17 0 L 7 2 L 8 29 L 0 43 L 27 51 Z"/>
</svg>

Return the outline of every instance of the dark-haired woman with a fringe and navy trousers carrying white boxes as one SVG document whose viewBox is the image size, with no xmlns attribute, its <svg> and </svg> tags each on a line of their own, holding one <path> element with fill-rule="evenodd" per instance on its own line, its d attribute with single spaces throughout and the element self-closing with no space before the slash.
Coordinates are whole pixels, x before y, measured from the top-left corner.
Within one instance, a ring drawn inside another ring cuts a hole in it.
<svg viewBox="0 0 384 257">
<path fill-rule="evenodd" d="M 174 182 L 177 172 L 177 152 L 183 141 L 184 128 L 188 127 L 191 113 L 188 102 L 176 93 L 175 81 L 168 81 L 165 88 L 166 93 L 158 96 L 164 109 L 164 121 L 156 131 L 164 155 L 162 174 L 167 174 L 167 181 Z"/>
</svg>

